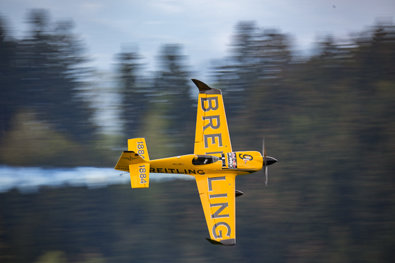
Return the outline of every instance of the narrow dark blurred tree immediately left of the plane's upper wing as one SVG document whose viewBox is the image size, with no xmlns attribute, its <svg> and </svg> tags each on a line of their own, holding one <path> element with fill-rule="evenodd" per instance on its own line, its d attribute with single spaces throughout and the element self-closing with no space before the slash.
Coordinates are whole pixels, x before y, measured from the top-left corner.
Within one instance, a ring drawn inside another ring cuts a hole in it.
<svg viewBox="0 0 395 263">
<path fill-rule="evenodd" d="M 152 110 L 158 118 L 166 120 L 161 130 L 170 139 L 168 149 L 177 149 L 177 154 L 193 152 L 195 134 L 196 102 L 191 98 L 191 72 L 186 59 L 181 45 L 161 46 L 160 70 L 155 72 L 152 86 Z"/>
</svg>

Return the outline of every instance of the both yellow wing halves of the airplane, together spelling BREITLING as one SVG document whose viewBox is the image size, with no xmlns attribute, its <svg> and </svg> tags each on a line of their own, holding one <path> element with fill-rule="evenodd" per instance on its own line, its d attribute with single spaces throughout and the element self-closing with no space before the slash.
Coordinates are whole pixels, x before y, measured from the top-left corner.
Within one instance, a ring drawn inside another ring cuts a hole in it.
<svg viewBox="0 0 395 263">
<path fill-rule="evenodd" d="M 221 154 L 231 150 L 231 142 L 220 89 L 192 80 L 199 89 L 194 154 Z M 236 244 L 236 173 L 195 176 L 200 201 L 212 244 Z"/>
</svg>

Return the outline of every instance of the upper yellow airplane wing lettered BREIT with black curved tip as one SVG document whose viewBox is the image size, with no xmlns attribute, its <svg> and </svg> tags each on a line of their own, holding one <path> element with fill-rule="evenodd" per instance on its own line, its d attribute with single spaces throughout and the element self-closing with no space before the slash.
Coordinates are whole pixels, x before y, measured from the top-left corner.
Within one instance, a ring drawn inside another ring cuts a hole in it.
<svg viewBox="0 0 395 263">
<path fill-rule="evenodd" d="M 192 81 L 199 88 L 194 154 L 231 152 L 227 116 L 220 89 L 211 89 L 199 80 Z"/>
</svg>

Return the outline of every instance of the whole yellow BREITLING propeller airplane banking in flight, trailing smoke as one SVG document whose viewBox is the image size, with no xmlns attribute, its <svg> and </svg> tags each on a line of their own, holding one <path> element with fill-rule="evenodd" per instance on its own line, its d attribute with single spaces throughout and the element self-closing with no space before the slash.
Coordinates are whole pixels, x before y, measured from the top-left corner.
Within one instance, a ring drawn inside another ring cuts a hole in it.
<svg viewBox="0 0 395 263">
<path fill-rule="evenodd" d="M 192 80 L 199 89 L 193 154 L 150 160 L 144 138 L 128 140 L 116 170 L 130 172 L 132 188 L 148 188 L 150 172 L 195 176 L 200 201 L 206 217 L 212 244 L 236 244 L 235 197 L 243 194 L 235 189 L 238 175 L 265 171 L 277 160 L 259 152 L 232 152 L 227 118 L 220 89 L 212 89 L 199 80 Z"/>
</svg>

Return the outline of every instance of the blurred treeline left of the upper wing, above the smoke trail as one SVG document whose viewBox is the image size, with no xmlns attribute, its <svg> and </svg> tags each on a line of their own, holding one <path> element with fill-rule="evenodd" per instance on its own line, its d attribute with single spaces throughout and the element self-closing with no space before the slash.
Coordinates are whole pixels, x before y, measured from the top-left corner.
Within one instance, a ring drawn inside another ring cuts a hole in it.
<svg viewBox="0 0 395 263">
<path fill-rule="evenodd" d="M 153 157 L 193 151 L 195 100 L 181 45 L 161 46 L 159 70 L 150 77 L 137 48 L 116 54 L 115 85 L 107 93 L 120 98 L 109 105 L 119 116 L 100 119 L 94 113 L 103 112 L 106 95 L 94 69 L 84 66 L 87 55 L 71 21 L 53 22 L 48 12 L 30 10 L 27 22 L 21 39 L 5 19 L 0 24 L 0 163 L 113 166 L 119 152 L 112 149 L 139 136 L 152 138 Z M 103 135 L 98 127 L 119 120 L 121 135 Z"/>
</svg>

